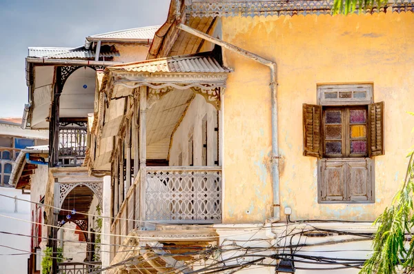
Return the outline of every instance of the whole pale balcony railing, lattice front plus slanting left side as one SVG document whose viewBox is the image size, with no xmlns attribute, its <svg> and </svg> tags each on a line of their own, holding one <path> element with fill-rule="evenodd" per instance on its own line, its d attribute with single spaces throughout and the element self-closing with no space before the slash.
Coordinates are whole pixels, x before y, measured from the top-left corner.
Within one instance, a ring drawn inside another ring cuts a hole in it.
<svg viewBox="0 0 414 274">
<path fill-rule="evenodd" d="M 149 166 L 145 170 L 145 177 L 139 170 L 115 212 L 120 219 L 112 223 L 112 233 L 128 235 L 134 228 L 153 229 L 157 223 L 221 223 L 221 167 Z M 115 244 L 121 244 L 117 238 Z"/>
</svg>

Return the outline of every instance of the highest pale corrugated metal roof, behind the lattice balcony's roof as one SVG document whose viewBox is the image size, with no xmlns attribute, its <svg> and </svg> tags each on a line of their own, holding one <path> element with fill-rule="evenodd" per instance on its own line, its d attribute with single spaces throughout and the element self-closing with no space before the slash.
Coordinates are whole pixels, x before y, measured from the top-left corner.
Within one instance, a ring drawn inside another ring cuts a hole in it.
<svg viewBox="0 0 414 274">
<path fill-rule="evenodd" d="M 161 26 L 150 26 L 144 28 L 130 28 L 129 30 L 117 30 L 114 32 L 101 33 L 100 35 L 91 35 L 90 37 L 86 37 L 86 39 L 152 39 L 155 32 L 160 27 Z"/>
</svg>

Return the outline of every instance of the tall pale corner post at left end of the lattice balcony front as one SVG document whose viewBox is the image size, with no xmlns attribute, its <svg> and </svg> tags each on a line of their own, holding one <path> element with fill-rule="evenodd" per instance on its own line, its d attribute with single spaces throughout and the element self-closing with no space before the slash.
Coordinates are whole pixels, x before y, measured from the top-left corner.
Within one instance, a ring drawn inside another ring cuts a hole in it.
<svg viewBox="0 0 414 274">
<path fill-rule="evenodd" d="M 145 229 L 146 220 L 146 110 L 147 110 L 148 87 L 141 86 L 139 91 L 139 220 L 141 229 Z"/>
</svg>

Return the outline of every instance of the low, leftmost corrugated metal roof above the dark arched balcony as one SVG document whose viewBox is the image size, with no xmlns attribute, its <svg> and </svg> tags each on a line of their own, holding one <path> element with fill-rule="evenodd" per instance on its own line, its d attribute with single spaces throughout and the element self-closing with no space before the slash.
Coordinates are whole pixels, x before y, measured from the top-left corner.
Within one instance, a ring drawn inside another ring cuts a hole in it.
<svg viewBox="0 0 414 274">
<path fill-rule="evenodd" d="M 99 57 L 108 58 L 118 56 L 119 52 L 99 52 Z M 83 46 L 79 48 L 29 48 L 28 57 L 43 57 L 50 59 L 89 59 L 95 58 L 95 51 L 87 50 Z"/>
</svg>

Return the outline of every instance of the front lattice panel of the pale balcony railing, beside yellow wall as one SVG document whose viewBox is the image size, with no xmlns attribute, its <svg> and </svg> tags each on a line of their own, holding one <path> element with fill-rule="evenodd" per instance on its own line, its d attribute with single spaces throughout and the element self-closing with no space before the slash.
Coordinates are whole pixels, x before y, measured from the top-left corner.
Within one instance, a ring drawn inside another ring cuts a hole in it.
<svg viewBox="0 0 414 274">
<path fill-rule="evenodd" d="M 221 172 L 156 170 L 146 175 L 146 220 L 221 222 Z"/>
</svg>

